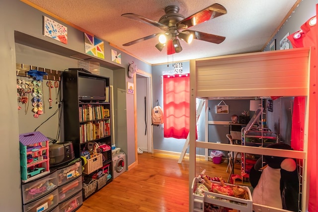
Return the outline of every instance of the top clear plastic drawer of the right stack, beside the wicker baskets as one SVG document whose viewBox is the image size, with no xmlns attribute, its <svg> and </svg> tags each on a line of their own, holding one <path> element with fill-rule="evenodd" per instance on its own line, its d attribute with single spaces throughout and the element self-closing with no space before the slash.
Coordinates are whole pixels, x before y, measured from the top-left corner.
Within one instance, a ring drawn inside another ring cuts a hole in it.
<svg viewBox="0 0 318 212">
<path fill-rule="evenodd" d="M 81 175 L 81 160 L 58 168 L 58 186 L 62 186 Z"/>
</svg>

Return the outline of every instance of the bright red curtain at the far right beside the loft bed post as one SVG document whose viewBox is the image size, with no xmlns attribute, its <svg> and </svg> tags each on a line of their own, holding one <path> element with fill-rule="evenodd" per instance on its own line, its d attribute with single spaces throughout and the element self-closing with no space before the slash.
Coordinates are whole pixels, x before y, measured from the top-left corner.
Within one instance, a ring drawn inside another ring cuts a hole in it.
<svg viewBox="0 0 318 212">
<path fill-rule="evenodd" d="M 316 16 L 318 14 L 318 4 L 316 4 Z M 308 129 L 308 179 L 310 180 L 309 189 L 309 204 L 308 211 L 309 212 L 317 212 L 317 203 L 318 203 L 318 181 L 317 181 L 317 160 L 318 160 L 318 97 L 317 97 L 317 66 L 318 66 L 318 26 L 316 21 L 313 19 L 316 16 L 308 19 L 306 23 L 304 23 L 300 28 L 301 30 L 291 34 L 288 36 L 288 39 L 291 41 L 294 48 L 301 47 L 313 47 L 311 51 L 311 75 L 310 75 L 310 86 L 309 86 L 309 126 Z M 303 127 L 304 127 L 304 114 L 305 114 L 305 101 L 304 97 L 296 97 L 294 101 L 294 111 L 293 111 L 293 129 L 292 129 L 292 138 L 291 145 L 296 149 L 302 150 L 302 143 L 299 141 L 303 141 Z M 297 130 L 296 130 L 297 129 Z M 296 132 L 293 132 L 296 130 Z M 298 131 L 298 133 L 297 133 Z"/>
</svg>

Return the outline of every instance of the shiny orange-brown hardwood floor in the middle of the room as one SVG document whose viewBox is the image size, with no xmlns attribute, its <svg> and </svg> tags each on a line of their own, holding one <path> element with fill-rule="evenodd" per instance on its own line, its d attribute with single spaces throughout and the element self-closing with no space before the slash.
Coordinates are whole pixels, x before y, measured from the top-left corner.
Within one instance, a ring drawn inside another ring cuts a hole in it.
<svg viewBox="0 0 318 212">
<path fill-rule="evenodd" d="M 83 202 L 78 212 L 188 212 L 189 159 L 178 156 L 138 154 L 138 165 L 124 172 Z M 227 161 L 214 164 L 197 158 L 196 173 L 206 169 L 211 177 L 228 179 Z M 235 166 L 239 173 L 239 164 Z"/>
</svg>

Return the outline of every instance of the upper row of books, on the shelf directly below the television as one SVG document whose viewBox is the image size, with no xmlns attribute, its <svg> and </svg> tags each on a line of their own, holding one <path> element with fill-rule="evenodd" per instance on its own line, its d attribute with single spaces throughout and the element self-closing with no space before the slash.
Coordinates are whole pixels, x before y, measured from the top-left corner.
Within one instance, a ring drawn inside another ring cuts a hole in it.
<svg viewBox="0 0 318 212">
<path fill-rule="evenodd" d="M 109 117 L 109 109 L 103 105 L 81 105 L 79 106 L 79 121 L 92 121 Z"/>
</svg>

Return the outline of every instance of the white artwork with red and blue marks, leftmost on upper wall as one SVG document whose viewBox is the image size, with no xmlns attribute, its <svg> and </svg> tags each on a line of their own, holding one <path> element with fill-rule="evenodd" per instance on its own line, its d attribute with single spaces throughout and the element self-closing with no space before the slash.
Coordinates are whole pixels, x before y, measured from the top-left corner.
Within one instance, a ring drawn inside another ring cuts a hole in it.
<svg viewBox="0 0 318 212">
<path fill-rule="evenodd" d="M 43 34 L 47 37 L 58 40 L 62 43 L 68 43 L 68 28 L 54 20 L 44 16 Z"/>
</svg>

